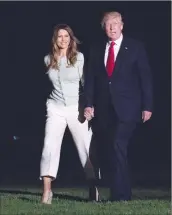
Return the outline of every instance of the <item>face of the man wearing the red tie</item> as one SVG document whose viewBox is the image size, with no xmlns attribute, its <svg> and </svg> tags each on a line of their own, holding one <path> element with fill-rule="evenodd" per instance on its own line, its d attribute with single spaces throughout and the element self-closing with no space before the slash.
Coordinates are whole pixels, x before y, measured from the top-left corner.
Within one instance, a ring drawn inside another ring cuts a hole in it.
<svg viewBox="0 0 172 215">
<path fill-rule="evenodd" d="M 110 40 L 117 40 L 122 33 L 123 23 L 120 17 L 109 16 L 105 21 L 105 32 Z"/>
</svg>

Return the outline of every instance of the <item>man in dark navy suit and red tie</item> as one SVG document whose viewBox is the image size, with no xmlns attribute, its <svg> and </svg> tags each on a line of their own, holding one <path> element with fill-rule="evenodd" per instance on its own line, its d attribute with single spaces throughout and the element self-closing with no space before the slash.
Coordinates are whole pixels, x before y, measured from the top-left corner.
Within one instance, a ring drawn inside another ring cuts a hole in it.
<svg viewBox="0 0 172 215">
<path fill-rule="evenodd" d="M 90 49 L 84 113 L 93 118 L 97 144 L 108 150 L 111 200 L 127 201 L 127 147 L 136 124 L 152 115 L 152 77 L 143 44 L 122 34 L 121 14 L 105 13 L 101 24 L 107 40 Z"/>
</svg>

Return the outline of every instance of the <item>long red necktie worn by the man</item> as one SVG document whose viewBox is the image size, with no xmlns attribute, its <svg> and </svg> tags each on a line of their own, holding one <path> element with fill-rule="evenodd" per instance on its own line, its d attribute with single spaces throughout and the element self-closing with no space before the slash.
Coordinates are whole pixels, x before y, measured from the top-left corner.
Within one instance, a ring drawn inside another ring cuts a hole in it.
<svg viewBox="0 0 172 215">
<path fill-rule="evenodd" d="M 114 56 L 114 49 L 113 49 L 114 45 L 115 45 L 115 42 L 112 41 L 109 47 L 109 54 L 108 54 L 108 59 L 106 63 L 106 70 L 109 77 L 112 75 L 112 72 L 115 66 L 115 56 Z"/>
</svg>

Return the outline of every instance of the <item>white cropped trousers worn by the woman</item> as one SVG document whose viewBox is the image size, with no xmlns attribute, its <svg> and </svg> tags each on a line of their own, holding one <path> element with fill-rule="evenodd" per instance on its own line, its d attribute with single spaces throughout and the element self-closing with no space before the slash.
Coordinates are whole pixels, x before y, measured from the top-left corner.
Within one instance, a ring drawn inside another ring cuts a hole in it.
<svg viewBox="0 0 172 215">
<path fill-rule="evenodd" d="M 43 176 L 57 177 L 59 169 L 61 144 L 66 126 L 72 134 L 81 164 L 87 179 L 95 179 L 95 173 L 89 159 L 89 148 L 92 138 L 88 121 L 78 121 L 78 105 L 60 106 L 53 100 L 47 101 L 47 119 L 45 125 L 45 138 L 40 163 L 40 179 Z"/>
</svg>

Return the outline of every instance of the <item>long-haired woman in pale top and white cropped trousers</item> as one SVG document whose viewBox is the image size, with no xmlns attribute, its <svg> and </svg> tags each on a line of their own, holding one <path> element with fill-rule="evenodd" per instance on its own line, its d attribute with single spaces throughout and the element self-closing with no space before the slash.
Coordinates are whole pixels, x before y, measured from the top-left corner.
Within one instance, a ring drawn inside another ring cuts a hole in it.
<svg viewBox="0 0 172 215">
<path fill-rule="evenodd" d="M 52 38 L 51 53 L 45 56 L 47 75 L 52 82 L 46 107 L 44 147 L 40 164 L 40 179 L 44 190 L 42 203 L 51 204 L 53 193 L 51 182 L 59 169 L 60 151 L 66 126 L 72 134 L 81 164 L 89 181 L 89 197 L 98 200 L 95 173 L 89 159 L 91 134 L 88 121 L 80 121 L 79 86 L 83 84 L 84 56 L 77 49 L 79 41 L 66 24 L 57 25 Z"/>
</svg>

